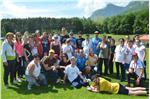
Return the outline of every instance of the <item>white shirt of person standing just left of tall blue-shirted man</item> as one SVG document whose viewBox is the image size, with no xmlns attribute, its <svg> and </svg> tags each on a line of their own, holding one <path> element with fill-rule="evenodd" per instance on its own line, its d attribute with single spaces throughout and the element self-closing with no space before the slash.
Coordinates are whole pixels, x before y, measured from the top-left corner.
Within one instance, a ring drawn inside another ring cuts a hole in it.
<svg viewBox="0 0 150 99">
<path fill-rule="evenodd" d="M 83 47 L 84 54 L 88 55 L 90 48 L 92 48 L 92 42 L 91 42 L 91 40 L 89 40 L 89 41 L 84 40 L 82 42 L 82 47 Z"/>
</svg>

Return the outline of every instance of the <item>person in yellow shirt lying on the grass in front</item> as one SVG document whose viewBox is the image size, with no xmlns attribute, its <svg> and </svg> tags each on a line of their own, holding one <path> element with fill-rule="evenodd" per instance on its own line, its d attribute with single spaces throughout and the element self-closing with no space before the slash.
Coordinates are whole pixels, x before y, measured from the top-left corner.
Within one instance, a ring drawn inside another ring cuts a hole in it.
<svg viewBox="0 0 150 99">
<path fill-rule="evenodd" d="M 96 76 L 93 84 L 87 88 L 87 90 L 100 93 L 108 92 L 112 94 L 124 94 L 124 95 L 148 95 L 149 91 L 144 87 L 125 87 L 119 83 L 111 83 L 108 80 Z"/>
</svg>

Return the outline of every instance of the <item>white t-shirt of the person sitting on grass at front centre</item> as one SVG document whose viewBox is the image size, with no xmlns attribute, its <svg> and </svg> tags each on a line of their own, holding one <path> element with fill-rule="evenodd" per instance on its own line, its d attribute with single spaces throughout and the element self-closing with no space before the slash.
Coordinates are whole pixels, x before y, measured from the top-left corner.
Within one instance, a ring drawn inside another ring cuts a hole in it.
<svg viewBox="0 0 150 99">
<path fill-rule="evenodd" d="M 67 74 L 67 77 L 70 82 L 75 80 L 78 77 L 78 75 L 81 73 L 77 66 L 72 67 L 71 65 L 72 64 L 68 65 L 64 71 L 65 74 Z"/>
</svg>

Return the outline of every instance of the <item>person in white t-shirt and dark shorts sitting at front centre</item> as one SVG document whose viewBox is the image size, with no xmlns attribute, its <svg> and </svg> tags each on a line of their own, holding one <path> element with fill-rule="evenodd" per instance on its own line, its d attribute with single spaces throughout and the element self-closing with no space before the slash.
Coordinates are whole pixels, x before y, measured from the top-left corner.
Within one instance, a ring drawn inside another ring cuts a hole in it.
<svg viewBox="0 0 150 99">
<path fill-rule="evenodd" d="M 68 78 L 69 82 L 75 88 L 81 88 L 82 86 L 88 86 L 89 83 L 87 80 L 81 75 L 80 70 L 76 66 L 76 58 L 74 56 L 71 57 L 71 64 L 65 68 L 65 76 L 64 82 L 66 78 Z"/>
</svg>

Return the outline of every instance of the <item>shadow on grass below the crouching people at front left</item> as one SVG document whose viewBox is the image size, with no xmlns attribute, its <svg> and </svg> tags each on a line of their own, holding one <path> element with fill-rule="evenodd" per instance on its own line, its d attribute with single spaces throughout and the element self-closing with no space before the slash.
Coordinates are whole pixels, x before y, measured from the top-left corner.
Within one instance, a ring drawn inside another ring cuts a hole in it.
<svg viewBox="0 0 150 99">
<path fill-rule="evenodd" d="M 55 87 L 55 88 L 54 88 Z M 15 84 L 13 86 L 10 86 L 9 89 L 16 91 L 18 94 L 23 95 L 29 95 L 29 94 L 43 94 L 43 93 L 58 93 L 57 89 L 63 88 L 63 90 L 72 90 L 73 87 L 71 87 L 69 84 L 56 84 L 56 85 L 49 85 L 49 86 L 33 86 L 31 90 L 27 89 L 27 82 L 22 82 L 20 84 Z"/>
</svg>

